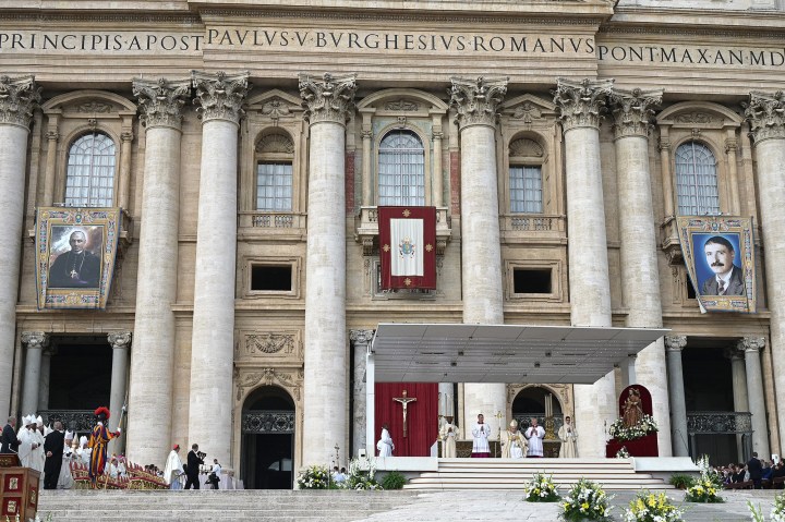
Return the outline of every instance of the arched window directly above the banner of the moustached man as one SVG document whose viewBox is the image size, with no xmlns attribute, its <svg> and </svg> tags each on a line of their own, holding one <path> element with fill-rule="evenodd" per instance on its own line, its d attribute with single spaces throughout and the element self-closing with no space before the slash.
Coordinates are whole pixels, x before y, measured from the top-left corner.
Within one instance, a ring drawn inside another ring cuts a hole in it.
<svg viewBox="0 0 785 522">
<path fill-rule="evenodd" d="M 678 214 L 720 214 L 716 159 L 700 142 L 687 142 L 676 149 L 676 194 Z"/>
</svg>

